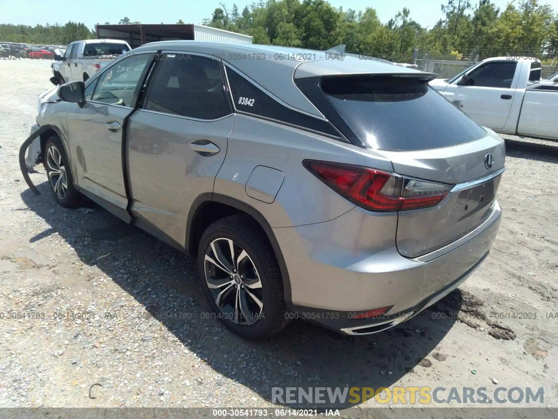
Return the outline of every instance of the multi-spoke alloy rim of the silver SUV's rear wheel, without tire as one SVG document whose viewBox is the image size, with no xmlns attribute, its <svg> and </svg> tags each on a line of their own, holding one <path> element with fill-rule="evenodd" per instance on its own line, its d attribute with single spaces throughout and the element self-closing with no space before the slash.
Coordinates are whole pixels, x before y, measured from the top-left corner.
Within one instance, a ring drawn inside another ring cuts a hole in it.
<svg viewBox="0 0 558 419">
<path fill-rule="evenodd" d="M 263 288 L 256 265 L 237 242 L 220 237 L 205 252 L 205 281 L 227 320 L 253 325 L 262 315 Z"/>
</svg>

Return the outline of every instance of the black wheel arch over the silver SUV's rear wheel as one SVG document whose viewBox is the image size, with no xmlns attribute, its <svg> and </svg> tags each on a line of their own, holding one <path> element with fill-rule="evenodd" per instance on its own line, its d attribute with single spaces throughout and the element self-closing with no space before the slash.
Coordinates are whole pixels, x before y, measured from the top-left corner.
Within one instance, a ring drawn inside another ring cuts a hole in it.
<svg viewBox="0 0 558 419">
<path fill-rule="evenodd" d="M 266 218 L 261 214 L 261 212 L 259 212 L 256 208 L 252 207 L 246 202 L 239 201 L 238 199 L 231 198 L 226 195 L 211 192 L 203 193 L 198 196 L 198 198 L 194 200 L 192 206 L 190 207 L 190 212 L 188 213 L 188 218 L 186 221 L 185 250 L 187 251 L 187 253 L 189 253 L 194 258 L 198 256 L 198 245 L 201 239 L 201 235 L 203 235 L 203 232 L 205 231 L 205 228 L 203 228 L 204 214 L 206 213 L 208 207 L 213 205 L 228 207 L 228 211 L 230 212 L 224 212 L 226 214 L 224 216 L 246 213 L 247 215 L 254 218 L 254 220 L 256 220 L 256 222 L 266 234 L 267 240 L 270 242 L 273 249 L 273 253 L 275 253 L 277 263 L 279 264 L 279 269 L 281 270 L 281 278 L 283 282 L 283 298 L 285 298 L 286 304 L 290 304 L 292 302 L 291 281 L 288 276 L 287 264 L 285 263 L 285 258 L 283 258 L 283 253 L 281 251 L 279 243 L 277 242 L 275 233 L 273 233 L 273 229 L 271 228 L 270 223 L 267 222 Z M 225 209 L 224 207 L 222 209 L 223 211 L 227 211 L 227 209 Z M 213 219 L 213 221 L 217 221 L 220 218 L 223 217 L 217 217 Z M 196 226 L 200 226 L 201 228 L 196 228 Z"/>
</svg>

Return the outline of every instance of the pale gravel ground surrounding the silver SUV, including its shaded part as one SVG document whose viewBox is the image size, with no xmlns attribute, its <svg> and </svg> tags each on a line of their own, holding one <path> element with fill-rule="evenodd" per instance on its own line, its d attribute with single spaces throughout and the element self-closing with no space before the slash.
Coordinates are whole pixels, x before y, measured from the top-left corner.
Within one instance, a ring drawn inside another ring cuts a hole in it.
<svg viewBox="0 0 558 419">
<path fill-rule="evenodd" d="M 271 387 L 346 385 L 544 387 L 558 406 L 556 143 L 509 137 L 492 253 L 435 307 L 358 339 L 295 321 L 251 342 L 208 318 L 192 259 L 58 206 L 42 166 L 28 190 L 17 152 L 49 77 L 0 61 L 0 407 L 264 407 Z"/>
</svg>

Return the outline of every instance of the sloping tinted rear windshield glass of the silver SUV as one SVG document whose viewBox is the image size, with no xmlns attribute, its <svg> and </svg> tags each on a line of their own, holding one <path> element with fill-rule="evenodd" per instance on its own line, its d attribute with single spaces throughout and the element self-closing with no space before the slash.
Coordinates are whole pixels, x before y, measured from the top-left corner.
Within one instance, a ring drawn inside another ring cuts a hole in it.
<svg viewBox="0 0 558 419">
<path fill-rule="evenodd" d="M 425 150 L 486 135 L 425 80 L 335 77 L 324 79 L 321 89 L 359 139 L 374 149 Z"/>
</svg>

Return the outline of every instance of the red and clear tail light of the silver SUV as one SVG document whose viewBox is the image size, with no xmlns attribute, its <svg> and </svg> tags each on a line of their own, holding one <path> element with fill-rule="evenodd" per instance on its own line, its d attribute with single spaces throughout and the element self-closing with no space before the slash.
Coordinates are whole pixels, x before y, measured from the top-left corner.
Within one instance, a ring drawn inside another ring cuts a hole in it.
<svg viewBox="0 0 558 419">
<path fill-rule="evenodd" d="M 374 212 L 435 207 L 453 187 L 350 164 L 317 160 L 302 164 L 341 196 Z"/>
</svg>

